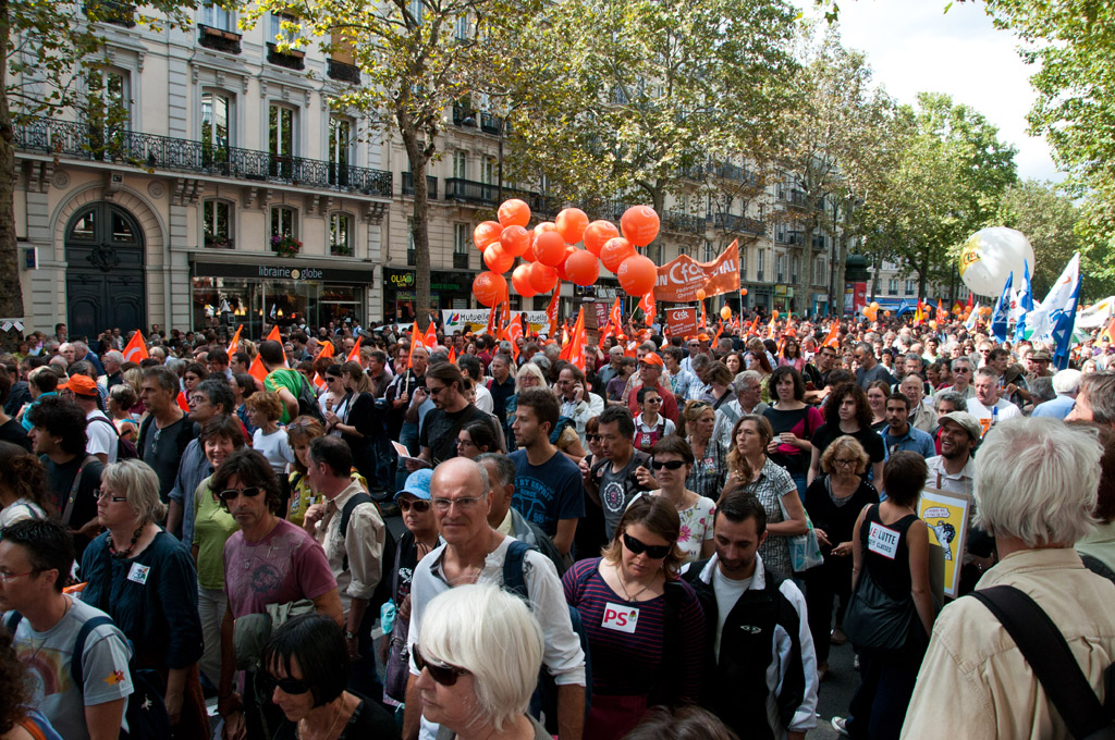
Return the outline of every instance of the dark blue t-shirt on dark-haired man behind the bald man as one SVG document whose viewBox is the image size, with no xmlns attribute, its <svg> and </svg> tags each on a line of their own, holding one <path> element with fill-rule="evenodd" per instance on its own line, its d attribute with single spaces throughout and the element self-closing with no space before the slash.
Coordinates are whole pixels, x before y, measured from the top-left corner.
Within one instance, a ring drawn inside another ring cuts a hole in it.
<svg viewBox="0 0 1115 740">
<path fill-rule="evenodd" d="M 510 457 L 515 463 L 515 495 L 511 505 L 527 522 L 553 537 L 559 519 L 584 516 L 584 483 L 581 469 L 571 459 L 555 451 L 542 465 L 531 465 L 525 449 L 515 450 Z"/>
</svg>

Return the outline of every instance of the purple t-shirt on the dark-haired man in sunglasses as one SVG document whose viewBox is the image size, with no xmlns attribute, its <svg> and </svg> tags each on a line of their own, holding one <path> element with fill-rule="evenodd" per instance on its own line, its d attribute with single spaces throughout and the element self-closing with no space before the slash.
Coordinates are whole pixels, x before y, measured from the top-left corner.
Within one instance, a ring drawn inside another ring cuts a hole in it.
<svg viewBox="0 0 1115 740">
<path fill-rule="evenodd" d="M 326 551 L 304 529 L 279 519 L 259 542 L 236 532 L 224 544 L 224 591 L 233 619 L 262 614 L 268 604 L 317 598 L 337 581 Z"/>
</svg>

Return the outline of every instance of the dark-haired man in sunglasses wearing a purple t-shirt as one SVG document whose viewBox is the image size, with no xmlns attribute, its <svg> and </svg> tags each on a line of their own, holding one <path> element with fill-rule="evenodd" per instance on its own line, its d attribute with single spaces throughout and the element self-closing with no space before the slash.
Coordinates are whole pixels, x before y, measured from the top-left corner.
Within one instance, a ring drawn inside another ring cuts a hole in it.
<svg viewBox="0 0 1115 740">
<path fill-rule="evenodd" d="M 321 545 L 306 529 L 279 518 L 279 480 L 265 457 L 253 449 L 237 449 L 216 469 L 210 485 L 240 525 L 224 545 L 229 607 L 221 621 L 217 710 L 225 720 L 226 737 L 242 737 L 249 727 L 255 737 L 264 737 L 260 710 L 270 698 L 256 694 L 253 672 L 248 672 L 243 697 L 233 691 L 233 678 L 237 664 L 250 660 L 248 645 L 259 637 L 258 631 L 270 632 L 268 606 L 310 600 L 318 614 L 342 625 L 341 600 Z M 245 619 L 251 615 L 259 616 Z M 265 737 L 273 731 L 270 728 Z"/>
</svg>

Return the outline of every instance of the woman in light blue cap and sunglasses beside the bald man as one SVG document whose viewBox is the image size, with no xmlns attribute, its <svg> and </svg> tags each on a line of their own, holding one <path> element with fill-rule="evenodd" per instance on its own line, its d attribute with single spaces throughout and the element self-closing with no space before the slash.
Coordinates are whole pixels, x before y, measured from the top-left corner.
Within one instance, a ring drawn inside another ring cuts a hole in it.
<svg viewBox="0 0 1115 740">
<path fill-rule="evenodd" d="M 390 636 L 381 640 L 380 655 L 387 665 L 387 695 L 395 701 L 406 701 L 409 653 L 407 634 L 410 631 L 410 580 L 419 561 L 438 545 L 437 518 L 430 506 L 429 481 L 434 477 L 430 468 L 415 470 L 407 476 L 403 490 L 395 494 L 395 504 L 403 513 L 403 525 L 407 528 L 399 537 L 395 549 L 395 572 L 385 573 L 391 578 L 391 601 L 395 602 L 395 626 Z"/>
</svg>

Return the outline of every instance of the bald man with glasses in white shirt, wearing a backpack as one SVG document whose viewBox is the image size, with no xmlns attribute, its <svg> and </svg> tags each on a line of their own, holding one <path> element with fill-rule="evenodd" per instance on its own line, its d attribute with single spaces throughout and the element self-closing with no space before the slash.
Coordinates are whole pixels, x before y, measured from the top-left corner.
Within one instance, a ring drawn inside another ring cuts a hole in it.
<svg viewBox="0 0 1115 740">
<path fill-rule="evenodd" d="M 446 460 L 434 470 L 430 500 L 445 544 L 415 568 L 410 587 L 409 645 L 420 640 L 426 606 L 439 593 L 471 583 L 504 584 L 504 563 L 513 542 L 488 524 L 492 484 L 485 466 L 474 460 Z M 558 726 L 562 740 L 580 740 L 584 724 L 584 652 L 573 632 L 558 572 L 544 555 L 530 549 L 523 556 L 523 580 L 534 616 L 542 625 L 543 663 L 558 684 Z M 414 655 L 411 649 L 410 654 Z M 416 685 L 419 671 L 411 660 L 407 685 L 404 740 L 433 740 L 437 726 L 421 718 Z"/>
</svg>

